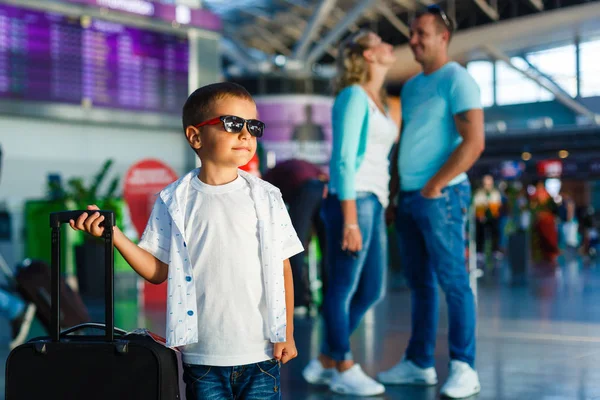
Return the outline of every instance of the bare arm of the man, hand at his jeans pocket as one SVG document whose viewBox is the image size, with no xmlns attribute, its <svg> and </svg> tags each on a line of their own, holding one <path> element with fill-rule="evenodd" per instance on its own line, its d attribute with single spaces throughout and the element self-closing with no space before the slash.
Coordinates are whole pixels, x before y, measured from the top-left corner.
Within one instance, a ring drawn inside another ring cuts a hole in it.
<svg viewBox="0 0 600 400">
<path fill-rule="evenodd" d="M 421 191 L 425 197 L 441 196 L 441 190 L 456 176 L 468 171 L 485 148 L 483 110 L 472 109 L 458 113 L 454 116 L 454 122 L 463 141 L 437 174 L 427 182 Z"/>
</svg>

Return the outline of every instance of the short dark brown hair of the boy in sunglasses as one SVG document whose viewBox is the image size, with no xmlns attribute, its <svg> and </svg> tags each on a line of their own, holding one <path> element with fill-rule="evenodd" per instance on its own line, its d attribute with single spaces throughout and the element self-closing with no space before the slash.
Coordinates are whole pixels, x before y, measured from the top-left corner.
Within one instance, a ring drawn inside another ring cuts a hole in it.
<svg viewBox="0 0 600 400">
<path fill-rule="evenodd" d="M 241 85 L 233 82 L 220 82 L 202 86 L 190 94 L 182 110 L 183 131 L 190 125 L 197 125 L 208 119 L 211 107 L 227 97 L 254 102 L 252 95 Z"/>
</svg>

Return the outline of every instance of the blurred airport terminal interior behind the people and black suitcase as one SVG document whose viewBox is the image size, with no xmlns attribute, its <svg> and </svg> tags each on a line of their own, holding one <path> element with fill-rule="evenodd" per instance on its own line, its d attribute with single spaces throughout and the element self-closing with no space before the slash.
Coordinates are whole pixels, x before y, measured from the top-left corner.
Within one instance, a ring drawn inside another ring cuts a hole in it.
<svg viewBox="0 0 600 400">
<path fill-rule="evenodd" d="M 341 140 L 332 82 L 344 39 L 376 34 L 394 60 L 385 116 L 405 128 L 414 104 L 403 110 L 401 93 L 424 65 L 414 39 L 423 13 L 450 32 L 448 60 L 477 84 L 484 115 L 485 149 L 466 171 L 464 246 L 455 246 L 475 301 L 480 391 L 467 398 L 600 400 L 597 0 L 0 0 L 0 399 L 11 350 L 50 334 L 50 311 L 36 302 L 49 306 L 51 296 L 27 298 L 23 281 L 23 271 L 50 266 L 49 215 L 96 204 L 140 241 L 156 194 L 200 167 L 181 127 L 187 97 L 224 81 L 247 89 L 265 123 L 256 155 L 240 167 L 269 181 L 294 160 L 285 178 L 310 170 L 322 183 L 316 200 L 297 195 L 295 205 L 281 187 L 296 230 L 294 207 L 308 221 L 293 267 L 304 283 L 294 286 L 304 289 L 295 296 L 298 356 L 281 366 L 282 398 L 360 398 L 303 376 L 323 350 L 325 289 L 336 280 L 321 235 L 335 193 L 320 196 Z M 380 159 L 395 164 L 388 153 Z M 66 228 L 61 277 L 81 299 L 82 322 L 103 323 L 102 245 Z M 402 360 L 414 323 L 398 226 L 382 232 L 385 295 L 351 336 L 354 361 L 373 378 Z M 114 258 L 115 326 L 166 337 L 167 283 L 145 282 Z M 36 284 L 49 288 L 49 278 Z M 452 335 L 447 297 L 436 290 L 437 385 L 386 384 L 369 398 L 444 398 Z"/>
</svg>

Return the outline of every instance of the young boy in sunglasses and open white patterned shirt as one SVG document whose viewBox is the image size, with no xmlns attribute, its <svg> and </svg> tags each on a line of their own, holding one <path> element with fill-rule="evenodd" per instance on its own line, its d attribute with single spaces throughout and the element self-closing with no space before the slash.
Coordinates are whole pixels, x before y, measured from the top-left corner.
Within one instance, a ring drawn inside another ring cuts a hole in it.
<svg viewBox="0 0 600 400">
<path fill-rule="evenodd" d="M 256 116 L 239 85 L 192 93 L 183 128 L 202 168 L 160 192 L 139 245 L 115 228 L 138 274 L 168 279 L 167 345 L 182 351 L 188 400 L 280 399 L 280 365 L 297 355 L 288 258 L 303 247 L 280 191 L 238 169 L 263 134 Z M 90 214 L 71 227 L 99 236 Z"/>
</svg>

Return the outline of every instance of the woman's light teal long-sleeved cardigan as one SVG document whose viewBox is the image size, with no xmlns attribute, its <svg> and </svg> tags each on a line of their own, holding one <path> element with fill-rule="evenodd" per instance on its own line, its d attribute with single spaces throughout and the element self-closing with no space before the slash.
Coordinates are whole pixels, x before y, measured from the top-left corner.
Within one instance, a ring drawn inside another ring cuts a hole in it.
<svg viewBox="0 0 600 400">
<path fill-rule="evenodd" d="M 369 133 L 369 98 L 359 85 L 348 86 L 337 95 L 331 125 L 329 188 L 340 200 L 354 200 L 355 175 L 364 158 Z"/>
</svg>

